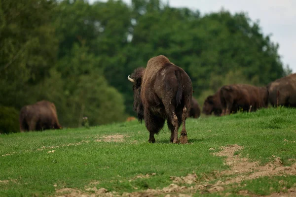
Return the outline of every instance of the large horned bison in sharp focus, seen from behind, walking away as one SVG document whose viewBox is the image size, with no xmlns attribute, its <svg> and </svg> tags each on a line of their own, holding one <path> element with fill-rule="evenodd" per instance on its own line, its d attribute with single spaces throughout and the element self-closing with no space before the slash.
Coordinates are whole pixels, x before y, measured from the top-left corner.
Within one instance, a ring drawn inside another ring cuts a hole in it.
<svg viewBox="0 0 296 197">
<path fill-rule="evenodd" d="M 167 120 L 171 130 L 170 142 L 186 143 L 185 121 L 192 98 L 192 83 L 186 72 L 160 55 L 151 58 L 146 68 L 135 69 L 128 75 L 128 80 L 133 82 L 133 109 L 150 133 L 148 141 L 155 142 L 154 134 L 159 133 Z"/>
</svg>

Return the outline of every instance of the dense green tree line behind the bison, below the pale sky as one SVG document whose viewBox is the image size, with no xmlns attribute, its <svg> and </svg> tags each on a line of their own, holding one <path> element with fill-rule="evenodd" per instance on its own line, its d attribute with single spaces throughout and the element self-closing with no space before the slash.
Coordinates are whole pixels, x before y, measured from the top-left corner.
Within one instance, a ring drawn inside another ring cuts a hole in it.
<svg viewBox="0 0 296 197">
<path fill-rule="evenodd" d="M 55 103 L 63 127 L 134 116 L 127 76 L 157 55 L 185 69 L 194 97 L 225 84 L 266 85 L 291 73 L 247 13 L 204 16 L 160 0 L 0 0 L 0 132 L 22 106 Z"/>
</svg>

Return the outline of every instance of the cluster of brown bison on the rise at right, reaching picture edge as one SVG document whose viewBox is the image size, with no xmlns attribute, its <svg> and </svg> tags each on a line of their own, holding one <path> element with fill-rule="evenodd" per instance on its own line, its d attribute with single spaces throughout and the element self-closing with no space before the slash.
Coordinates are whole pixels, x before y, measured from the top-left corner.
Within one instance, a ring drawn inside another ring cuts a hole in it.
<svg viewBox="0 0 296 197">
<path fill-rule="evenodd" d="M 205 99 L 202 113 L 216 116 L 236 113 L 238 110 L 256 111 L 274 106 L 296 107 L 296 74 L 270 82 L 266 87 L 247 84 L 222 86 L 214 95 Z"/>
</svg>

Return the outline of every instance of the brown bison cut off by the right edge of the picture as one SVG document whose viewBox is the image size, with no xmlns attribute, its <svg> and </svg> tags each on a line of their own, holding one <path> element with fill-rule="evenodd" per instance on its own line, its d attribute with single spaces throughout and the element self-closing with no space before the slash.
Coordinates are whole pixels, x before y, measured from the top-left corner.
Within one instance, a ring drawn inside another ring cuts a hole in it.
<svg viewBox="0 0 296 197">
<path fill-rule="evenodd" d="M 296 73 L 269 83 L 267 89 L 272 106 L 296 107 Z"/>
</svg>

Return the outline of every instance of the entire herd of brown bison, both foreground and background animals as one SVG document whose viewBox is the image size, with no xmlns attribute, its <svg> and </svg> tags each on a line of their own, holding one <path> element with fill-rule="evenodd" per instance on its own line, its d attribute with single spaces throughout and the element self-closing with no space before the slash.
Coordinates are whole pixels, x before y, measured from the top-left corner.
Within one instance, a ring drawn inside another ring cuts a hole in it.
<svg viewBox="0 0 296 197">
<path fill-rule="evenodd" d="M 201 114 L 197 100 L 192 97 L 192 82 L 187 73 L 160 55 L 148 60 L 146 68 L 135 69 L 127 78 L 133 83 L 133 110 L 138 120 L 145 122 L 150 133 L 148 141 L 155 142 L 154 134 L 159 133 L 167 121 L 171 131 L 170 142 L 186 143 L 186 118 L 198 118 Z M 202 113 L 224 116 L 239 110 L 251 112 L 267 108 L 268 103 L 272 106 L 296 107 L 296 74 L 263 87 L 248 84 L 222 86 L 205 99 Z M 24 106 L 20 111 L 19 123 L 21 132 L 62 129 L 54 103 L 47 100 Z"/>
</svg>

